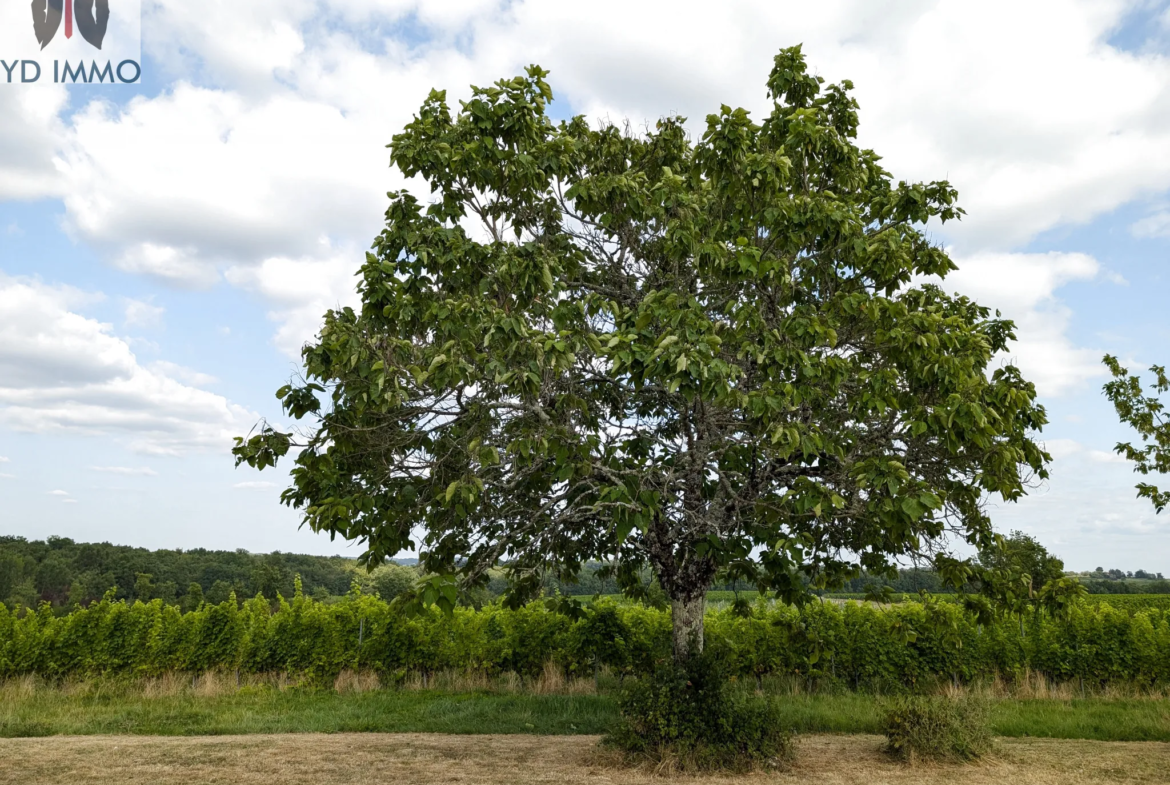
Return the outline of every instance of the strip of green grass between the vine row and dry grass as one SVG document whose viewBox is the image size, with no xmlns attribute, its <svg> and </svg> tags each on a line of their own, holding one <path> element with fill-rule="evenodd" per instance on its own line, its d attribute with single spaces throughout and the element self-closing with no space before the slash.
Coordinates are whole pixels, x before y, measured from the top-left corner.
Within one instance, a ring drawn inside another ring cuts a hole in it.
<svg viewBox="0 0 1170 785">
<path fill-rule="evenodd" d="M 0 736 L 132 734 L 194 736 L 291 732 L 603 734 L 617 718 L 612 695 L 528 695 L 377 690 L 243 691 L 220 697 L 75 696 L 37 690 L 0 705 Z M 862 694 L 782 697 L 797 732 L 876 734 L 883 702 Z M 1170 742 L 1164 700 L 1004 700 L 992 710 L 1002 736 Z"/>
</svg>

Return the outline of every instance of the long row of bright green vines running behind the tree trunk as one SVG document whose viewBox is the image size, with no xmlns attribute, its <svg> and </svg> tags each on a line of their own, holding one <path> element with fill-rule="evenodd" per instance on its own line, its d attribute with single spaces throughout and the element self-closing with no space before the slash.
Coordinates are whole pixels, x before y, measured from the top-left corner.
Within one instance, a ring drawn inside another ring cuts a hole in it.
<svg viewBox="0 0 1170 785">
<path fill-rule="evenodd" d="M 577 620 L 543 604 L 489 605 L 407 617 L 358 592 L 333 604 L 301 593 L 181 613 L 154 600 L 103 600 L 66 617 L 0 605 L 0 677 L 41 674 L 289 673 L 325 682 L 345 668 L 407 673 L 514 672 L 555 662 L 569 674 L 598 665 L 645 672 L 669 656 L 669 612 L 599 601 Z M 1067 619 L 1032 615 L 979 626 L 949 602 L 875 607 L 757 602 L 707 617 L 707 645 L 741 679 L 790 674 L 853 689 L 914 689 L 1025 670 L 1090 684 L 1170 683 L 1170 611 L 1085 602 Z"/>
</svg>

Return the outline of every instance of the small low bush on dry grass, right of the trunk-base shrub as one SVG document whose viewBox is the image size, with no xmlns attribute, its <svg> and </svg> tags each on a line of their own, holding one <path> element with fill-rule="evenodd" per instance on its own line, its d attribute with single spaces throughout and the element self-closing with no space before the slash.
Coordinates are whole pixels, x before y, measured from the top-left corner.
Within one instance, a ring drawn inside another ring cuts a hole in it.
<svg viewBox="0 0 1170 785">
<path fill-rule="evenodd" d="M 989 707 L 978 698 L 895 698 L 885 725 L 887 750 L 903 760 L 973 760 L 991 750 Z"/>
</svg>

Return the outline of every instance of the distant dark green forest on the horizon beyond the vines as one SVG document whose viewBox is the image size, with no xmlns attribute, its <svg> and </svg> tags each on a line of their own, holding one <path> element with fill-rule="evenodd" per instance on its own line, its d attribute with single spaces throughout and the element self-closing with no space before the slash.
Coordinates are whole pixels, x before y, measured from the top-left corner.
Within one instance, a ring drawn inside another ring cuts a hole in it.
<svg viewBox="0 0 1170 785">
<path fill-rule="evenodd" d="M 113 590 L 115 599 L 160 599 L 186 611 L 204 601 L 222 602 L 233 592 L 240 601 L 256 594 L 269 599 L 292 597 L 297 576 L 304 593 L 318 601 L 345 594 L 355 581 L 364 592 L 390 599 L 418 578 L 415 569 L 402 562 L 377 567 L 371 573 L 356 559 L 340 556 L 206 549 L 152 551 L 110 543 L 76 543 L 68 537 L 29 540 L 0 536 L 0 602 L 9 608 L 49 602 L 64 612 L 99 600 Z M 576 584 L 549 579 L 545 588 L 550 593 L 577 595 L 619 593 L 613 579 L 597 574 L 599 566 L 586 565 Z M 1170 581 L 1161 573 L 1099 569 L 1076 574 L 1093 594 L 1170 594 Z M 861 593 L 872 585 L 889 586 L 895 593 L 947 591 L 932 571 L 915 569 L 902 570 L 896 578 L 861 576 L 840 591 Z M 752 590 L 742 584 L 715 588 Z M 503 578 L 494 577 L 482 599 L 498 597 L 503 590 Z"/>
</svg>

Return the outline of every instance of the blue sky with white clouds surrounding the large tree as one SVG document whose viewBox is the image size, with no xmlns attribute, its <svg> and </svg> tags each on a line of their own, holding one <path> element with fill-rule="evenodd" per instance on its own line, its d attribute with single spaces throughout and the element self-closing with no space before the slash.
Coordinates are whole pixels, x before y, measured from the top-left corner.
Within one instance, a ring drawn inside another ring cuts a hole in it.
<svg viewBox="0 0 1170 785">
<path fill-rule="evenodd" d="M 111 30 L 137 11 L 110 5 Z M 356 302 L 386 192 L 426 197 L 385 145 L 427 92 L 539 63 L 555 117 L 698 131 L 759 117 L 794 43 L 853 81 L 895 178 L 958 190 L 966 216 L 930 227 L 945 285 L 1017 322 L 998 361 L 1035 383 L 1054 461 L 997 528 L 1170 573 L 1170 514 L 1135 497 L 1101 394 L 1106 352 L 1170 363 L 1170 6 L 1147 0 L 142 0 L 139 83 L 0 73 L 0 535 L 356 556 L 229 448 L 283 422 L 274 391 Z"/>
</svg>

